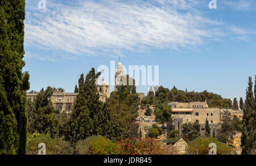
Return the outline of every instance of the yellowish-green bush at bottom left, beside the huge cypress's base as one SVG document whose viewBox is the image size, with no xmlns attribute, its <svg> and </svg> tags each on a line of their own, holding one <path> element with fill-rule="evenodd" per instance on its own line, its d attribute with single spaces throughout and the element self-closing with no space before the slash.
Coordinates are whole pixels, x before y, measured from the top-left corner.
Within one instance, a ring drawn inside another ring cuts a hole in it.
<svg viewBox="0 0 256 166">
<path fill-rule="evenodd" d="M 27 135 L 27 155 L 37 155 L 38 154 L 38 144 L 46 144 L 46 154 L 47 155 L 72 155 L 73 148 L 69 146 L 68 142 L 64 142 L 61 138 L 51 138 L 50 134 L 28 134 Z"/>
</svg>

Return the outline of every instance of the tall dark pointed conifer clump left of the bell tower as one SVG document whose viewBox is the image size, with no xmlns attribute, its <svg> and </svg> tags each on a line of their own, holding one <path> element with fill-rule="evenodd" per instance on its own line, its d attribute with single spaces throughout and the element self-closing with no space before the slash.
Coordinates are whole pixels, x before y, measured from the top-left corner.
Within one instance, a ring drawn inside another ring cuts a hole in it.
<svg viewBox="0 0 256 166">
<path fill-rule="evenodd" d="M 119 135 L 119 128 L 115 125 L 106 103 L 99 100 L 96 80 L 100 76 L 95 69 L 89 71 L 84 78 L 79 78 L 79 93 L 72 110 L 71 119 L 67 126 L 65 139 L 75 146 L 77 141 L 93 135 L 112 138 Z"/>
</svg>

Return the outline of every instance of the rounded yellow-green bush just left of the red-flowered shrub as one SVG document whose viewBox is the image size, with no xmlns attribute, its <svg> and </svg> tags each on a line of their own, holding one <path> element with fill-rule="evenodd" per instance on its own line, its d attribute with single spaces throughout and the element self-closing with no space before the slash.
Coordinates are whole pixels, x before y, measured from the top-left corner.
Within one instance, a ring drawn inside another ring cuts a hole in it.
<svg viewBox="0 0 256 166">
<path fill-rule="evenodd" d="M 85 140 L 80 140 L 76 144 L 78 155 L 109 155 L 117 150 L 112 150 L 115 146 L 104 136 L 90 136 Z"/>
</svg>

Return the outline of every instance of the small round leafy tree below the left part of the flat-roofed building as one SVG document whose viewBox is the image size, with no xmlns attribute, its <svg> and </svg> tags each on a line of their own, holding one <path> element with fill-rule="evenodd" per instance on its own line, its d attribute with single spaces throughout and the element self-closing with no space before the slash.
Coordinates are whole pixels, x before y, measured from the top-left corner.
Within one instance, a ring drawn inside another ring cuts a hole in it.
<svg viewBox="0 0 256 166">
<path fill-rule="evenodd" d="M 182 124 L 182 138 L 185 141 L 192 141 L 201 136 L 199 123 L 185 123 Z"/>
</svg>

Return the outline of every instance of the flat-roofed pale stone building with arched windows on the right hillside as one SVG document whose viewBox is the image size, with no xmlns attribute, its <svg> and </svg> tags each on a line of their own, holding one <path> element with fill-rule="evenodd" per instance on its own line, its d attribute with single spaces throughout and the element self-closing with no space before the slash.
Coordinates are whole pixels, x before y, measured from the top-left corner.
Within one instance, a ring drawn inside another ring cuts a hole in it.
<svg viewBox="0 0 256 166">
<path fill-rule="evenodd" d="M 221 114 L 224 110 L 230 111 L 232 117 L 238 117 L 242 119 L 243 111 L 232 110 L 232 109 L 221 109 L 219 107 L 209 107 L 207 102 L 170 102 L 168 105 L 171 106 L 173 118 L 174 118 L 174 129 L 179 130 L 180 134 L 182 131 L 182 124 L 198 122 L 200 124 L 201 134 L 205 134 L 205 120 L 207 118 L 211 132 L 215 128 L 217 132 L 220 128 Z M 170 125 L 169 125 L 170 126 Z M 211 133 L 212 134 L 212 133 Z M 181 135 L 180 135 L 181 136 Z"/>
</svg>

